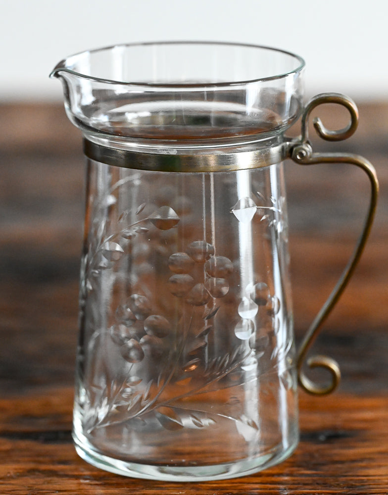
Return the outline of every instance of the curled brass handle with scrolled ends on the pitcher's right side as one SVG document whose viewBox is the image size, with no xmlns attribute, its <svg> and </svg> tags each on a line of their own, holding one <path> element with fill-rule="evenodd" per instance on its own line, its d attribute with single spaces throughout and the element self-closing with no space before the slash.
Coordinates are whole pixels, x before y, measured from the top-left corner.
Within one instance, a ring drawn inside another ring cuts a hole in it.
<svg viewBox="0 0 388 495">
<path fill-rule="evenodd" d="M 308 140 L 308 117 L 311 111 L 318 105 L 322 103 L 337 103 L 348 109 L 350 113 L 350 123 L 347 127 L 337 131 L 327 130 L 321 120 L 316 118 L 313 120 L 314 128 L 318 135 L 327 141 L 341 141 L 350 137 L 356 130 L 358 125 L 358 110 L 355 103 L 343 95 L 336 93 L 324 93 L 313 97 L 306 105 L 302 120 L 302 134 L 301 138 L 297 141 L 291 143 L 290 156 L 292 160 L 300 165 L 313 165 L 317 163 L 350 163 L 360 167 L 366 172 L 371 183 L 371 198 L 368 209 L 368 214 L 365 220 L 364 227 L 361 232 L 361 236 L 358 239 L 356 247 L 351 255 L 345 269 L 343 270 L 339 281 L 337 282 L 335 288 L 330 294 L 329 298 L 319 311 L 318 315 L 312 322 L 310 328 L 307 330 L 306 335 L 300 345 L 298 355 L 297 355 L 297 372 L 299 385 L 303 390 L 314 395 L 325 395 L 330 394 L 340 380 L 340 371 L 338 363 L 327 356 L 313 356 L 307 359 L 306 364 L 309 368 L 322 367 L 331 373 L 332 381 L 329 385 L 323 386 L 314 383 L 310 380 L 303 371 L 303 363 L 307 354 L 307 351 L 313 344 L 315 338 L 318 335 L 320 327 L 328 317 L 329 313 L 339 300 L 342 292 L 344 291 L 347 283 L 349 282 L 354 269 L 361 257 L 361 253 L 365 247 L 366 241 L 368 239 L 373 218 L 376 212 L 377 198 L 379 194 L 379 183 L 376 176 L 376 171 L 373 165 L 363 158 L 362 156 L 356 154 L 346 154 L 346 153 L 313 153 L 311 145 Z"/>
</svg>

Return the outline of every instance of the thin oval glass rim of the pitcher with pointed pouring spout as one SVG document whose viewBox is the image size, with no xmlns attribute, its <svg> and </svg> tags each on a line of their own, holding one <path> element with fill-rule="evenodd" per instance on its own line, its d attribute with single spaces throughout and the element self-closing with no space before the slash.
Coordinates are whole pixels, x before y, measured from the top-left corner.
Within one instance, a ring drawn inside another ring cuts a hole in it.
<svg viewBox="0 0 388 495">
<path fill-rule="evenodd" d="M 248 79 L 248 80 L 238 80 L 238 81 L 223 81 L 223 82 L 201 82 L 201 83 L 193 83 L 193 82 L 182 82 L 182 83 L 152 83 L 152 82 L 125 82 L 125 81 L 120 81 L 120 80 L 113 80 L 113 79 L 106 79 L 102 77 L 97 77 L 97 76 L 90 76 L 87 74 L 82 74 L 81 72 L 77 72 L 73 69 L 70 69 L 66 67 L 66 63 L 70 58 L 77 57 L 80 55 L 84 55 L 86 53 L 97 53 L 98 51 L 105 51 L 105 50 L 112 50 L 112 49 L 117 49 L 117 48 L 129 48 L 129 47 L 142 47 L 142 46 L 162 46 L 162 45 L 218 45 L 218 46 L 230 46 L 230 47 L 236 47 L 236 48 L 254 48 L 254 49 L 262 49 L 262 50 L 268 50 L 268 51 L 273 51 L 274 53 L 283 53 L 285 55 L 289 55 L 293 58 L 295 58 L 299 64 L 295 69 L 285 71 L 281 74 L 275 74 L 272 76 L 267 76 L 267 77 L 260 77 L 257 79 Z M 274 80 L 279 80 L 283 79 L 291 74 L 297 74 L 300 73 L 305 67 L 305 61 L 304 59 L 300 56 L 297 55 L 291 51 L 284 50 L 284 49 L 278 49 L 274 47 L 269 47 L 265 45 L 254 45 L 254 44 L 248 44 L 248 43 L 234 43 L 234 42 L 219 42 L 219 41 L 161 41 L 161 42 L 141 42 L 141 43 L 124 43 L 124 44 L 117 44 L 117 45 L 110 45 L 108 47 L 102 47 L 102 48 L 97 48 L 97 49 L 91 49 L 91 50 L 84 50 L 84 51 L 79 51 L 77 53 L 74 53 L 73 55 L 69 55 L 68 57 L 62 59 L 60 62 L 58 62 L 53 70 L 50 72 L 49 77 L 60 77 L 61 72 L 66 72 L 68 74 L 71 74 L 76 77 L 80 77 L 83 79 L 88 79 L 89 81 L 96 81 L 96 82 L 101 82 L 105 84 L 120 84 L 123 86 L 128 86 L 128 87 L 145 87 L 149 89 L 197 89 L 197 88 L 225 88 L 225 87 L 233 87 L 233 86 L 242 86 L 242 85 L 248 85 L 248 84 L 254 84 L 254 83 L 260 83 L 260 82 L 265 82 L 265 81 L 274 81 Z"/>
</svg>

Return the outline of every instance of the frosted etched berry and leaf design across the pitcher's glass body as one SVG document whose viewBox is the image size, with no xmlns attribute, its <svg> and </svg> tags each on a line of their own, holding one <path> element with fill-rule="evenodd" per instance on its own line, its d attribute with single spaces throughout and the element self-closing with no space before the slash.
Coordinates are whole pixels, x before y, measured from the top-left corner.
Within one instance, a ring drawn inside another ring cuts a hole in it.
<svg viewBox="0 0 388 495">
<path fill-rule="evenodd" d="M 113 199 L 109 201 L 110 206 L 114 204 Z M 251 198 L 242 198 L 232 212 L 243 223 L 250 222 L 258 212 L 262 214 L 261 221 L 268 221 L 270 225 L 280 210 L 273 201 L 272 206 L 258 206 Z M 94 291 L 98 274 L 114 270 L 123 256 L 125 259 L 129 247 L 134 256 L 139 249 L 146 259 L 150 245 L 142 239 L 151 238 L 152 232 L 174 229 L 181 221 L 176 211 L 166 205 L 149 213 L 149 205 L 142 203 L 135 214 L 143 218 L 132 223 L 128 222 L 129 214 L 129 210 L 121 213 L 114 233 L 107 234 L 106 225 L 98 227 L 97 241 L 84 259 L 84 291 Z M 167 263 L 164 261 L 170 273 L 163 283 L 170 298 L 177 301 L 177 307 L 184 309 L 179 318 L 171 318 L 146 291 L 129 292 L 126 299 L 116 302 L 117 306 L 112 308 L 113 322 L 109 323 L 106 333 L 110 347 L 115 349 L 120 372 L 114 379 L 108 379 L 112 373 L 106 369 L 101 373 L 106 378 L 93 384 L 95 398 L 89 397 L 89 401 L 97 403 L 98 408 L 85 418 L 89 433 L 120 423 L 139 430 L 155 418 L 162 428 L 171 431 L 209 426 L 217 421 L 219 411 L 195 410 L 194 405 L 189 410 L 181 407 L 181 401 L 218 390 L 224 381 L 232 383 L 234 376 L 237 377 L 234 384 L 238 384 L 244 379 L 242 371 L 249 369 L 249 359 L 257 360 L 270 347 L 267 329 L 276 329 L 280 302 L 270 294 L 265 283 L 258 282 L 245 288 L 237 305 L 240 320 L 235 326 L 235 337 L 238 344 L 232 346 L 230 352 L 209 357 L 207 346 L 214 318 L 222 305 L 220 300 L 230 291 L 233 263 L 216 253 L 215 247 L 205 240 L 191 242 L 185 252 L 170 253 L 165 256 Z M 256 328 L 257 321 L 262 328 Z M 108 367 L 105 361 L 103 365 Z M 232 410 L 234 405 L 230 407 Z M 230 416 L 229 419 L 258 428 L 249 417 Z"/>
</svg>

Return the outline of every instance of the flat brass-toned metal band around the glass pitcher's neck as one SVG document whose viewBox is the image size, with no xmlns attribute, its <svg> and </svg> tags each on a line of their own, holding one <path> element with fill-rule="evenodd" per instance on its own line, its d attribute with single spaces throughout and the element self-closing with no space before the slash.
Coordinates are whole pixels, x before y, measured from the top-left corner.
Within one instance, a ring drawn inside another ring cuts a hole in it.
<svg viewBox="0 0 388 495">
<path fill-rule="evenodd" d="M 225 148 L 222 148 L 212 153 L 194 149 L 190 154 L 188 150 L 184 150 L 185 154 L 167 154 L 110 148 L 84 139 L 84 153 L 92 160 L 116 167 L 154 172 L 226 172 L 267 167 L 289 156 L 290 143 L 285 141 L 259 149 L 252 149 L 249 144 L 249 148 L 244 150 L 242 146 L 236 147 L 234 152 L 225 152 Z"/>
</svg>

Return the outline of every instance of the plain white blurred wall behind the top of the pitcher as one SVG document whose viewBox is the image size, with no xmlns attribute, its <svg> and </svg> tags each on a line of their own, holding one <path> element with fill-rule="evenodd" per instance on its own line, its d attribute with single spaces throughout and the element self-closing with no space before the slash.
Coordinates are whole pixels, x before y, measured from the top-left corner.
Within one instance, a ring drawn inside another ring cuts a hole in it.
<svg viewBox="0 0 388 495">
<path fill-rule="evenodd" d="M 0 0 L 0 100 L 61 99 L 61 58 L 117 43 L 217 40 L 306 60 L 306 92 L 388 99 L 388 2 Z"/>
</svg>

